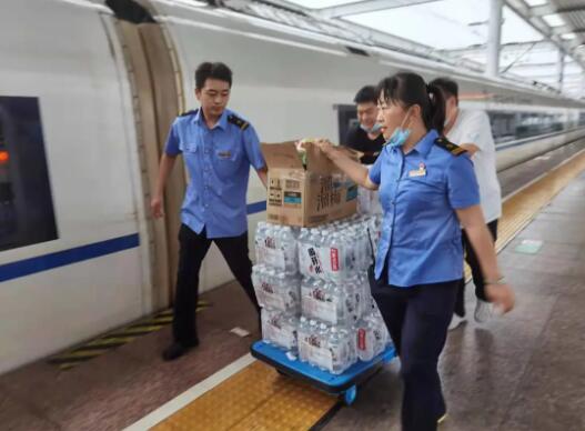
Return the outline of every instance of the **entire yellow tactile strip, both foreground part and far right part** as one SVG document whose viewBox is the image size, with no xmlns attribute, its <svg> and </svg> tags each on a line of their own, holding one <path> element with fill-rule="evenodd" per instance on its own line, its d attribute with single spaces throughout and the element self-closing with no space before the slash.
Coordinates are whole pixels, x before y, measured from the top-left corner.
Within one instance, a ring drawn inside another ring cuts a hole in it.
<svg viewBox="0 0 585 431">
<path fill-rule="evenodd" d="M 583 171 L 585 152 L 504 202 L 498 251 Z M 256 361 L 159 423 L 154 430 L 309 430 L 335 402 L 334 397 L 282 377 Z"/>
</svg>

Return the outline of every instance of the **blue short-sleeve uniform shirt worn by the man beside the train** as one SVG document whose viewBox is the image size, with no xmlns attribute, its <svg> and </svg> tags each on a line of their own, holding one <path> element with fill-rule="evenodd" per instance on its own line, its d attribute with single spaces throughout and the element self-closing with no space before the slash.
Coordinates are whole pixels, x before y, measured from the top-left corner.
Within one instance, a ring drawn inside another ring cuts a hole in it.
<svg viewBox="0 0 585 431">
<path fill-rule="evenodd" d="M 178 117 L 164 152 L 183 154 L 189 186 L 181 221 L 208 238 L 238 237 L 248 230 L 245 196 L 250 164 L 264 168 L 258 134 L 240 116 L 225 109 L 213 129 L 201 109 Z"/>
</svg>

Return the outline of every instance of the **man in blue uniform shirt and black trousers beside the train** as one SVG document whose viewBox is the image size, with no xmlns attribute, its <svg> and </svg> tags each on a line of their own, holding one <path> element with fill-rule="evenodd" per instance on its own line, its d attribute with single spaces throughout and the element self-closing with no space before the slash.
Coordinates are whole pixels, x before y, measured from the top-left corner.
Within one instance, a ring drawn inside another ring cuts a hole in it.
<svg viewBox="0 0 585 431">
<path fill-rule="evenodd" d="M 250 166 L 264 186 L 266 168 L 254 128 L 226 109 L 231 87 L 232 71 L 225 64 L 204 62 L 198 67 L 195 97 L 201 107 L 174 120 L 161 158 L 151 202 L 155 218 L 163 216 L 163 190 L 176 156 L 183 154 L 190 177 L 181 208 L 174 340 L 163 352 L 167 361 L 199 344 L 199 270 L 212 241 L 260 312 L 251 279 L 245 196 Z"/>
</svg>

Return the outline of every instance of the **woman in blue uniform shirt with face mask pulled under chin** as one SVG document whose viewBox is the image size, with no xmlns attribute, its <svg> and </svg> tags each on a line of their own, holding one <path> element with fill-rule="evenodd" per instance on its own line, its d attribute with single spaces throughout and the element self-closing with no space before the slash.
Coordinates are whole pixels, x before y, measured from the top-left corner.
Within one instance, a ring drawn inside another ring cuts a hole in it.
<svg viewBox="0 0 585 431">
<path fill-rule="evenodd" d="M 329 141 L 319 146 L 356 183 L 380 189 L 384 222 L 372 294 L 401 358 L 402 428 L 435 430 L 446 414 L 437 361 L 463 273 L 460 225 L 480 258 L 488 298 L 506 312 L 514 294 L 497 268 L 473 164 L 441 137 L 441 91 L 404 72 L 383 79 L 377 93 L 386 144 L 370 171 Z"/>
</svg>

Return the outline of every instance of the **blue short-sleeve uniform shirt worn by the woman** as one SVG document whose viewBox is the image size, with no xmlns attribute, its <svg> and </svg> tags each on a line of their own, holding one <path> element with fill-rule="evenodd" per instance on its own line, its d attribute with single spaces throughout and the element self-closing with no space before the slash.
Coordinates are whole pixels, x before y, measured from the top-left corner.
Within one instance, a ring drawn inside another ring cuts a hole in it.
<svg viewBox="0 0 585 431">
<path fill-rule="evenodd" d="M 384 147 L 370 170 L 384 210 L 375 277 L 401 288 L 457 280 L 463 274 L 455 209 L 480 203 L 473 163 L 435 144 L 431 130 L 412 151 Z"/>
</svg>

